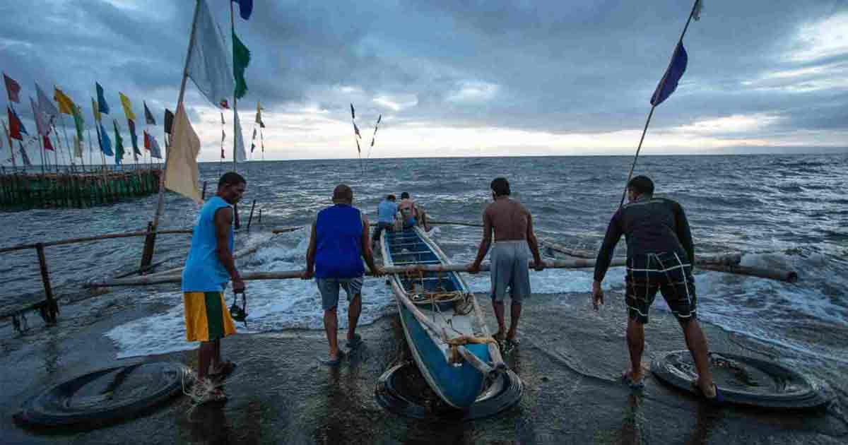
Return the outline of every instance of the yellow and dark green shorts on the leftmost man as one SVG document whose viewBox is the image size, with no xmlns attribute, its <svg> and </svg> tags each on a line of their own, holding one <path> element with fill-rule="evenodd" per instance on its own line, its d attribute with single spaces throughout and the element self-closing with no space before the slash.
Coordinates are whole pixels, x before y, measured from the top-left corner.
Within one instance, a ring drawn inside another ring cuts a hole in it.
<svg viewBox="0 0 848 445">
<path fill-rule="evenodd" d="M 224 292 L 182 292 L 182 303 L 189 342 L 209 342 L 236 333 Z"/>
</svg>

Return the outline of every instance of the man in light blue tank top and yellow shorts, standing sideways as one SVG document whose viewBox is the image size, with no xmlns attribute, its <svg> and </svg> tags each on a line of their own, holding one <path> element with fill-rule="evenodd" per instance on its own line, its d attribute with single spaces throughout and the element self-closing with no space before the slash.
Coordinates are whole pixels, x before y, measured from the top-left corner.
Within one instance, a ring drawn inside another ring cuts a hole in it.
<svg viewBox="0 0 848 445">
<path fill-rule="evenodd" d="M 218 192 L 200 209 L 194 226 L 192 246 L 182 270 L 186 338 L 200 342 L 198 381 L 192 398 L 199 403 L 226 400 L 226 394 L 212 379 L 222 379 L 235 364 L 220 358 L 220 339 L 236 333 L 224 303 L 224 289 L 232 281 L 234 292 L 244 292 L 244 281 L 232 256 L 232 205 L 241 199 L 247 181 L 235 172 L 225 173 L 218 181 Z"/>
</svg>

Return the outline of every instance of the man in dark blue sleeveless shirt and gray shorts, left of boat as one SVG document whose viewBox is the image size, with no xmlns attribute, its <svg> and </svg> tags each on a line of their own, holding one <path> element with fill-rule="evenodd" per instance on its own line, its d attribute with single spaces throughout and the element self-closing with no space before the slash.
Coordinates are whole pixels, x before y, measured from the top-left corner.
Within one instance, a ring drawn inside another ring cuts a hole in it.
<svg viewBox="0 0 848 445">
<path fill-rule="evenodd" d="M 356 324 L 362 311 L 362 279 L 368 264 L 373 275 L 382 275 L 382 269 L 374 264 L 371 243 L 368 242 L 368 219 L 353 206 L 354 191 L 340 184 L 332 191 L 332 207 L 318 212 L 312 225 L 310 248 L 306 253 L 304 280 L 315 276 L 321 292 L 324 309 L 324 329 L 330 343 L 330 358 L 324 364 L 335 366 L 341 363 L 344 353 L 338 348 L 339 287 L 348 296 L 348 348 L 356 348 L 362 338 L 356 333 Z"/>
</svg>

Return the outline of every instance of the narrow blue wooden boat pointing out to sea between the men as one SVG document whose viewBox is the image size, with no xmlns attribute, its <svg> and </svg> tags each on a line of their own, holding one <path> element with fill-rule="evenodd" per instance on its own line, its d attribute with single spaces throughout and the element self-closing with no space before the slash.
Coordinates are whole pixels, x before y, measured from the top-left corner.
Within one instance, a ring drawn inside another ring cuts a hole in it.
<svg viewBox="0 0 848 445">
<path fill-rule="evenodd" d="M 420 228 L 383 231 L 385 266 L 449 264 L 447 256 Z M 483 314 L 457 272 L 418 271 L 389 278 L 404 335 L 432 391 L 456 409 L 468 409 L 491 392 L 507 370 Z M 517 377 L 516 377 L 517 378 Z"/>
</svg>

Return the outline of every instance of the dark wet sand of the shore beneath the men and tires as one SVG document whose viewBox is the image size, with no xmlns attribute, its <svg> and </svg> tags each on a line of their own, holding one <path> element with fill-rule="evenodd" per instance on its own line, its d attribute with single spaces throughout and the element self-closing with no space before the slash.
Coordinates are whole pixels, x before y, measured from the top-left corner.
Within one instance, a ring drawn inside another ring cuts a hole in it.
<svg viewBox="0 0 848 445">
<path fill-rule="evenodd" d="M 478 296 L 489 325 L 494 317 Z M 618 381 L 627 366 L 621 296 L 608 295 L 595 313 L 587 294 L 544 294 L 524 305 L 522 344 L 506 358 L 521 376 L 524 396 L 498 416 L 467 423 L 407 420 L 374 399 L 377 378 L 408 357 L 396 314 L 360 330 L 365 346 L 336 368 L 323 331 L 237 335 L 223 342 L 238 368 L 226 382 L 230 400 L 187 415 L 186 397 L 136 420 L 100 430 L 45 433 L 15 426 L 20 402 L 87 371 L 147 360 L 196 365 L 195 352 L 114 360 L 103 332 L 155 313 L 155 305 L 78 317 L 0 342 L 0 437 L 3 443 L 845 443 L 845 367 L 809 370 L 840 397 L 827 409 L 775 412 L 712 408 L 649 374 L 635 394 Z M 103 309 L 107 312 L 109 308 Z M 774 358 L 783 352 L 704 325 L 711 350 Z M 344 331 L 340 331 L 343 338 Z M 646 328 L 644 364 L 662 351 L 684 348 L 677 322 L 655 310 Z"/>
</svg>

